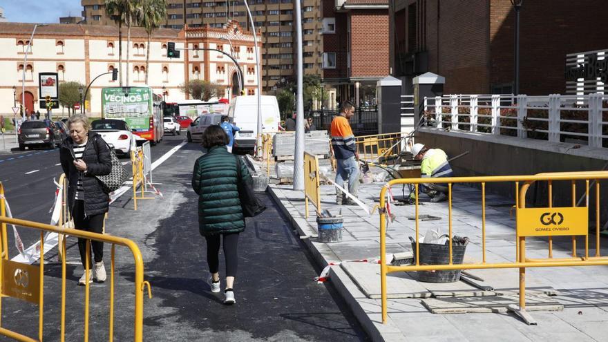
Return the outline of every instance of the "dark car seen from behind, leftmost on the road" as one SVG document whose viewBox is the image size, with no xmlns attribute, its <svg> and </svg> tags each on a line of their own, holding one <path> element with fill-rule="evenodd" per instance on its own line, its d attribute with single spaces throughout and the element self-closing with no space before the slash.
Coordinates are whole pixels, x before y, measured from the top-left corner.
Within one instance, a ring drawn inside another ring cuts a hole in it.
<svg viewBox="0 0 608 342">
<path fill-rule="evenodd" d="M 61 131 L 50 120 L 27 120 L 23 122 L 17 132 L 19 150 L 23 151 L 26 147 L 47 146 L 55 149 L 61 144 Z"/>
</svg>

